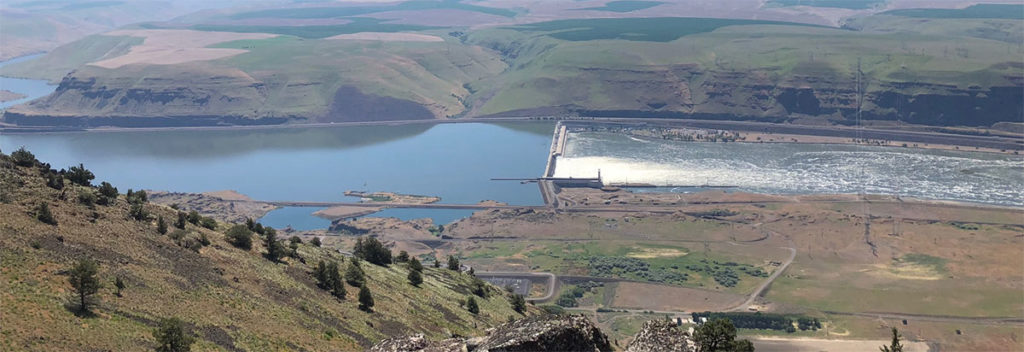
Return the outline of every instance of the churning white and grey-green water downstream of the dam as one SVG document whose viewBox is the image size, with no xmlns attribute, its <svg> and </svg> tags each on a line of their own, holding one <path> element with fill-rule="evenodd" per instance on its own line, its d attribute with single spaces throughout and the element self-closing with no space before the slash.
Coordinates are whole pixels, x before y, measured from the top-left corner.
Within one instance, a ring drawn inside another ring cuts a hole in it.
<svg viewBox="0 0 1024 352">
<path fill-rule="evenodd" d="M 1024 206 L 1024 158 L 810 143 L 712 143 L 573 132 L 556 177 L 654 185 L 735 185 L 760 193 L 878 193 Z M 658 191 L 699 188 L 660 187 Z"/>
</svg>

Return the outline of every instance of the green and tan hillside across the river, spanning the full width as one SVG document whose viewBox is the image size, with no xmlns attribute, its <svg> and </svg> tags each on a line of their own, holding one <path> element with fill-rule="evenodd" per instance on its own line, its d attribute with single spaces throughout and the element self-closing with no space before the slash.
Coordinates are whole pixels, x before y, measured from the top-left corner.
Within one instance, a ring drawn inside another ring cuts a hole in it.
<svg viewBox="0 0 1024 352">
<path fill-rule="evenodd" d="M 53 79 L 78 68 L 54 95 L 10 109 L 7 121 L 31 124 L 42 117 L 40 123 L 49 124 L 79 116 L 102 125 L 104 118 L 140 117 L 188 124 L 227 117 L 220 123 L 276 124 L 582 115 L 849 125 L 862 107 L 865 120 L 880 124 L 991 126 L 1024 114 L 1024 25 L 979 17 L 992 12 L 989 7 L 927 20 L 919 12 L 857 15 L 843 28 L 699 17 L 440 28 L 349 17 L 413 5 L 380 6 L 189 20 L 188 28 L 203 31 L 283 35 L 215 44 L 247 52 L 178 64 L 83 67 L 134 45 L 90 37 L 61 48 L 77 53 L 70 58 L 55 52 L 3 71 Z M 354 32 L 388 35 L 331 39 Z M 173 124 L 152 124 L 163 125 Z"/>
</svg>

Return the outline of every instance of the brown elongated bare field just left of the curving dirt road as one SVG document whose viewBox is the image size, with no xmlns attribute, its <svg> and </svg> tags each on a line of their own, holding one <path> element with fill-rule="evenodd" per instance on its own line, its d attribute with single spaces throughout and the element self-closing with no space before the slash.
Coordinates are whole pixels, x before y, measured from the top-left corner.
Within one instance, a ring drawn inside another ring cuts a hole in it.
<svg viewBox="0 0 1024 352">
<path fill-rule="evenodd" d="M 620 282 L 611 306 L 674 311 L 718 311 L 743 301 L 740 295 L 664 284 Z"/>
</svg>

